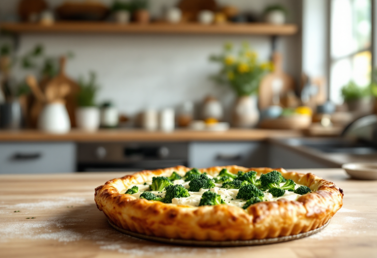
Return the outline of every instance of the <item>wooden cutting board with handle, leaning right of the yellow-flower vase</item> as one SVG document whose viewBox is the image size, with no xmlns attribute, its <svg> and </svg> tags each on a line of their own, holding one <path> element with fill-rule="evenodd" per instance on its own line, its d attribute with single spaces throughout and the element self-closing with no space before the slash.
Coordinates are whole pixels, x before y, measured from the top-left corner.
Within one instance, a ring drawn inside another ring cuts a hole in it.
<svg viewBox="0 0 377 258">
<path fill-rule="evenodd" d="M 281 84 L 280 97 L 287 94 L 290 90 L 295 90 L 295 81 L 291 76 L 284 73 L 282 68 L 282 56 L 280 53 L 275 52 L 272 55 L 272 63 L 274 70 L 272 73 L 266 75 L 259 86 L 259 109 L 264 110 L 273 105 L 273 90 L 274 83 Z M 276 104 L 275 104 L 276 105 Z"/>
</svg>

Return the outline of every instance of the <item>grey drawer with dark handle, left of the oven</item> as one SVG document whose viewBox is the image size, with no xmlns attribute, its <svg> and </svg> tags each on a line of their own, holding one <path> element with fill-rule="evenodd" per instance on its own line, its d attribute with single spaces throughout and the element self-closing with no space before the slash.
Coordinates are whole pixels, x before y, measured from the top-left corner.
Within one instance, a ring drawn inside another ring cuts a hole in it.
<svg viewBox="0 0 377 258">
<path fill-rule="evenodd" d="M 0 143 L 0 174 L 76 170 L 75 143 Z"/>
</svg>

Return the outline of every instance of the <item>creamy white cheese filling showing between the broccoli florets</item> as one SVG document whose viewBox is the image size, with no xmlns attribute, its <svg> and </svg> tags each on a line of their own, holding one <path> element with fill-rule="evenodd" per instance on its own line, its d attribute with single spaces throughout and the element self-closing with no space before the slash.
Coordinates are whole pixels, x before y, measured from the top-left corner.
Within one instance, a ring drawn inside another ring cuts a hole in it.
<svg viewBox="0 0 377 258">
<path fill-rule="evenodd" d="M 208 175 L 208 177 L 212 178 L 212 176 L 210 176 L 210 175 Z M 179 184 L 179 185 L 182 185 L 183 187 L 185 187 L 186 189 L 188 189 L 189 188 L 189 186 L 188 186 L 189 182 L 190 181 L 185 182 L 185 180 L 180 179 L 180 180 L 174 180 L 173 184 L 174 185 Z M 152 182 L 146 182 L 146 183 L 147 183 L 146 185 L 136 184 L 135 186 L 137 186 L 139 188 L 139 192 L 133 194 L 132 196 L 139 199 L 140 195 L 143 192 L 149 191 L 149 185 L 152 184 Z M 282 186 L 284 184 L 285 183 L 280 183 L 280 186 Z M 133 186 L 134 185 L 131 185 L 129 188 L 131 188 Z M 242 206 L 246 203 L 246 201 L 236 198 L 239 189 L 226 189 L 226 188 L 221 188 L 221 186 L 222 186 L 222 183 L 215 183 L 214 188 L 210 188 L 210 189 L 202 189 L 201 188 L 199 190 L 199 192 L 188 191 L 188 193 L 190 194 L 189 197 L 173 198 L 171 202 L 172 202 L 172 204 L 178 204 L 178 205 L 199 206 L 199 202 L 200 202 L 200 199 L 202 198 L 203 193 L 207 192 L 207 191 L 212 191 L 212 192 L 215 192 L 216 194 L 219 194 L 221 196 L 221 199 L 223 201 L 225 201 L 226 204 L 242 208 Z M 301 186 L 301 185 L 296 184 L 296 188 L 299 187 L 299 186 Z M 126 191 L 126 190 L 124 190 L 124 191 Z M 161 197 L 161 198 L 164 198 L 164 196 L 165 196 L 165 191 L 162 191 L 162 192 L 150 191 L 150 192 L 155 194 L 158 197 Z M 276 200 L 279 200 L 279 199 L 282 199 L 282 198 L 287 199 L 289 201 L 296 201 L 297 198 L 301 196 L 301 195 L 295 194 L 294 192 L 289 192 L 289 191 L 285 191 L 285 194 L 283 196 L 277 197 L 277 198 L 273 197 L 270 193 L 268 193 L 268 190 L 264 191 L 263 193 L 265 194 L 263 201 L 276 201 Z"/>
</svg>

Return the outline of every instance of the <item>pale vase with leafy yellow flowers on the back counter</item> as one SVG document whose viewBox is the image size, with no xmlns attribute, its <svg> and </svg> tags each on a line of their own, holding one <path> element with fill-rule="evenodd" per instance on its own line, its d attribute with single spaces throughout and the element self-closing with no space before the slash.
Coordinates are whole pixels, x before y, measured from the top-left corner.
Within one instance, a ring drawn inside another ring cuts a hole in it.
<svg viewBox="0 0 377 258">
<path fill-rule="evenodd" d="M 211 60 L 221 65 L 219 73 L 213 76 L 215 82 L 230 86 L 238 96 L 233 110 L 233 125 L 255 126 L 259 120 L 256 94 L 262 77 L 271 70 L 272 64 L 260 63 L 257 53 L 246 43 L 240 50 L 226 44 L 223 53 L 212 56 Z"/>
</svg>

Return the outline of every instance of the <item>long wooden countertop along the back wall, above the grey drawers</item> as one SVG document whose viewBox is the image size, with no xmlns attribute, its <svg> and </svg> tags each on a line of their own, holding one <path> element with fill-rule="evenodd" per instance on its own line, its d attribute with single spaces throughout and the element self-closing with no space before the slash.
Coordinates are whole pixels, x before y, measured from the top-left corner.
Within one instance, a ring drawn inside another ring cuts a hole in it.
<svg viewBox="0 0 377 258">
<path fill-rule="evenodd" d="M 275 137 L 298 137 L 299 131 L 230 129 L 225 132 L 175 130 L 170 133 L 136 129 L 108 129 L 88 133 L 72 130 L 67 134 L 48 134 L 37 130 L 0 131 L 0 142 L 101 142 L 101 141 L 261 141 Z"/>
</svg>

